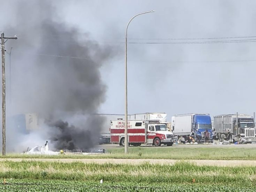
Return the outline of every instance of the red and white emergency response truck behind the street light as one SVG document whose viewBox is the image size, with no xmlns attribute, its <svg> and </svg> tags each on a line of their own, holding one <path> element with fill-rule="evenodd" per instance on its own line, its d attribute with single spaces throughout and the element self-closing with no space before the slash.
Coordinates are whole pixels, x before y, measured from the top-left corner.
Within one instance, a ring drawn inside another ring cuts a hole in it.
<svg viewBox="0 0 256 192">
<path fill-rule="evenodd" d="M 112 143 L 124 146 L 125 121 L 110 121 L 110 136 Z M 127 122 L 129 145 L 140 146 L 142 143 L 161 146 L 172 146 L 175 142 L 172 132 L 167 131 L 166 124 L 159 120 L 130 120 Z"/>
</svg>

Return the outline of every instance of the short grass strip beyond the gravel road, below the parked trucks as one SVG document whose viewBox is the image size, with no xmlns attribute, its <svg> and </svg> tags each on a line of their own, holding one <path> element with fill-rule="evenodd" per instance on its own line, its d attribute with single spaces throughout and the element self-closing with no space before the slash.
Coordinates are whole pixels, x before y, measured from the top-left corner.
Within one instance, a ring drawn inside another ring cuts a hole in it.
<svg viewBox="0 0 256 192">
<path fill-rule="evenodd" d="M 130 147 L 124 154 L 123 147 L 106 149 L 100 155 L 20 155 L 8 154 L 0 158 L 99 158 L 99 159 L 211 159 L 211 160 L 256 160 L 256 151 L 248 147 Z"/>
</svg>

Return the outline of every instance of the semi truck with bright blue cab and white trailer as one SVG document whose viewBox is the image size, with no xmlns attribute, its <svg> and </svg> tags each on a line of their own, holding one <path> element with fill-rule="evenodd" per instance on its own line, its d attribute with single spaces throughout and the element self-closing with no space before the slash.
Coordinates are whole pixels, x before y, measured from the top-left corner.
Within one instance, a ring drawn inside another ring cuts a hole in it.
<svg viewBox="0 0 256 192">
<path fill-rule="evenodd" d="M 212 141 L 212 126 L 209 114 L 180 114 L 172 117 L 172 130 L 175 136 L 187 137 L 193 131 L 196 142 L 204 142 L 204 132 L 208 130 L 209 141 Z"/>
</svg>

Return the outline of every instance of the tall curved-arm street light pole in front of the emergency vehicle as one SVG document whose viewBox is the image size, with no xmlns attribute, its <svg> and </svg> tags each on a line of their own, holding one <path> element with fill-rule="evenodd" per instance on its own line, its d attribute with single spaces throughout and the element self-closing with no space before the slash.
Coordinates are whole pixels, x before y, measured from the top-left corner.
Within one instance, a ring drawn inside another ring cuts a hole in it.
<svg viewBox="0 0 256 192">
<path fill-rule="evenodd" d="M 146 13 L 152 13 L 154 11 L 146 11 L 146 12 L 143 12 L 143 13 L 139 13 L 135 16 L 133 16 L 129 23 L 127 24 L 127 27 L 126 27 L 126 32 L 125 32 L 125 124 L 124 124 L 124 153 L 127 154 L 128 153 L 128 130 L 127 130 L 127 122 L 128 122 L 128 119 L 127 119 L 127 116 L 128 116 L 128 102 L 127 102 L 127 29 L 128 29 L 128 26 L 129 24 L 131 23 L 131 21 L 139 16 L 139 15 L 142 15 L 142 14 L 146 14 Z"/>
</svg>

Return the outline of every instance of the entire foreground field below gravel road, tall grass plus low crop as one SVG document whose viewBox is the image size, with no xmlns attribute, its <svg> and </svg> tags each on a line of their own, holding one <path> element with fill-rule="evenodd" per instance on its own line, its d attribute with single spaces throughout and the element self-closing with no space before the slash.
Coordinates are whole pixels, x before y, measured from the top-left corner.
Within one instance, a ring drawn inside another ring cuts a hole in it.
<svg viewBox="0 0 256 192">
<path fill-rule="evenodd" d="M 256 190 L 255 167 L 197 166 L 183 162 L 169 166 L 4 161 L 0 164 L 0 178 L 1 191 Z"/>
</svg>

